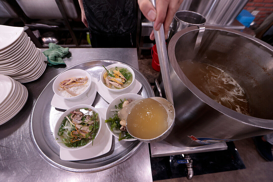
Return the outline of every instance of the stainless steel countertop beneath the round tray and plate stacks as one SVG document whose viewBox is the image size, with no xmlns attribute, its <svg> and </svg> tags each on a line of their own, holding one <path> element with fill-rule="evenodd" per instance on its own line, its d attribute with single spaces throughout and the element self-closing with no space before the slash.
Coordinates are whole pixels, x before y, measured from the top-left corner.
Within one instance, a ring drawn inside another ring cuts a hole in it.
<svg viewBox="0 0 273 182">
<path fill-rule="evenodd" d="M 48 66 L 38 80 L 23 84 L 29 93 L 25 106 L 10 121 L 0 125 L 0 181 L 152 181 L 147 143 L 125 162 L 88 174 L 57 169 L 34 149 L 29 135 L 30 113 L 46 84 L 57 74 L 74 64 L 96 59 L 117 60 L 139 69 L 135 48 L 71 48 L 69 52 L 72 55 L 64 58 L 65 68 Z"/>
</svg>

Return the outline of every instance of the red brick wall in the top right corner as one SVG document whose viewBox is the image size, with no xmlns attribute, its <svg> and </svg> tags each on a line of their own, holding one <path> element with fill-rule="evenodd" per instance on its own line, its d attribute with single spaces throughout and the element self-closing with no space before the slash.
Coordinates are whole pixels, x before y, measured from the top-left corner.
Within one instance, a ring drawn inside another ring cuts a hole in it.
<svg viewBox="0 0 273 182">
<path fill-rule="evenodd" d="M 260 25 L 273 12 L 273 0 L 249 0 L 244 9 L 250 13 L 254 10 L 259 11 L 254 21 Z"/>
</svg>

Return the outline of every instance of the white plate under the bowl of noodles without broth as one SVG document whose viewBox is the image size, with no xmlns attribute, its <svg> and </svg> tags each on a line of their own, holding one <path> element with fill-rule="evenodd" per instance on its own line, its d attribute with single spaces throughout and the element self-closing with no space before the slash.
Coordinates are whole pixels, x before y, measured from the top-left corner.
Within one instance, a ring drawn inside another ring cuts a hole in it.
<svg viewBox="0 0 273 182">
<path fill-rule="evenodd" d="M 59 109 L 65 109 L 65 110 L 80 104 L 92 105 L 97 94 L 97 91 L 95 89 L 95 85 L 97 82 L 98 82 L 97 78 L 92 77 L 90 90 L 87 92 L 86 96 L 79 99 L 63 99 L 59 97 L 58 95 L 54 94 L 51 100 L 51 105 L 53 107 L 56 107 Z"/>
</svg>

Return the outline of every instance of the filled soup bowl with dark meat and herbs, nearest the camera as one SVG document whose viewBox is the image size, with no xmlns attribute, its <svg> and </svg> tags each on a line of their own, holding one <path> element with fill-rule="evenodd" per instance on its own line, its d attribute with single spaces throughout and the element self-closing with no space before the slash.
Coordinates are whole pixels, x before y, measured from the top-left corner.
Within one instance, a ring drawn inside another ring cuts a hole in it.
<svg viewBox="0 0 273 182">
<path fill-rule="evenodd" d="M 54 137 L 66 150 L 78 150 L 96 143 L 100 132 L 101 117 L 91 105 L 76 105 L 66 110 L 56 122 Z"/>
</svg>

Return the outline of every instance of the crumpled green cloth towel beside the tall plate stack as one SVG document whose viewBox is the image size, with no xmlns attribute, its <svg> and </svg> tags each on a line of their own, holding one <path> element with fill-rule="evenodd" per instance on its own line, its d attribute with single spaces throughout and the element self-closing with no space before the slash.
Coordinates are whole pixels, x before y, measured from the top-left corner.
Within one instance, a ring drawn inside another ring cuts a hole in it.
<svg viewBox="0 0 273 182">
<path fill-rule="evenodd" d="M 63 48 L 59 45 L 54 43 L 48 44 L 49 49 L 45 50 L 43 54 L 48 58 L 48 65 L 59 65 L 59 64 L 66 64 L 64 63 L 62 57 L 66 55 L 69 51 L 69 48 Z"/>
</svg>

